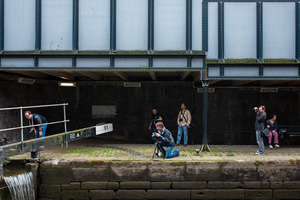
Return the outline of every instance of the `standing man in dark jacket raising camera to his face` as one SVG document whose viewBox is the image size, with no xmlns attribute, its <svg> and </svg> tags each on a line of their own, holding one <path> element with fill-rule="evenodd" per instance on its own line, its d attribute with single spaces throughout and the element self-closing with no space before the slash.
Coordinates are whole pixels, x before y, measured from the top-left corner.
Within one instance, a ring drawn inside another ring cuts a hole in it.
<svg viewBox="0 0 300 200">
<path fill-rule="evenodd" d="M 260 106 L 259 108 L 254 107 L 254 112 L 256 115 L 255 118 L 255 131 L 256 131 L 256 141 L 258 144 L 258 151 L 256 155 L 263 155 L 265 153 L 264 140 L 261 134 L 261 131 L 265 128 L 265 121 L 267 114 L 265 112 L 265 106 Z"/>
</svg>

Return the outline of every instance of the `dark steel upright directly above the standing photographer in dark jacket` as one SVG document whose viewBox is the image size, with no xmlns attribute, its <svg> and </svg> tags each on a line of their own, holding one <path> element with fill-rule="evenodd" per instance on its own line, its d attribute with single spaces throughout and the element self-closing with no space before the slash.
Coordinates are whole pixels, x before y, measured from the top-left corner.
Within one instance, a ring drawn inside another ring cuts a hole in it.
<svg viewBox="0 0 300 200">
<path fill-rule="evenodd" d="M 256 2 L 256 57 L 257 60 L 263 59 L 263 2 L 257 0 Z"/>
</svg>

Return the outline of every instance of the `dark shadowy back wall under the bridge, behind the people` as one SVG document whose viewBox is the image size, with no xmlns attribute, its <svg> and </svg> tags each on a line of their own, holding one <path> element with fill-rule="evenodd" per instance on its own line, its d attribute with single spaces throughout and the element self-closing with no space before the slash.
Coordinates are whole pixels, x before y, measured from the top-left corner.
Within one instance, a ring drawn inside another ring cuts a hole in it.
<svg viewBox="0 0 300 200">
<path fill-rule="evenodd" d="M 202 139 L 202 93 L 192 83 L 158 84 L 142 83 L 141 88 L 124 88 L 123 84 L 77 85 L 75 88 L 58 87 L 56 84 L 25 85 L 1 81 L 0 107 L 69 103 L 68 129 L 88 127 L 100 122 L 112 122 L 114 132 L 109 138 L 150 142 L 148 125 L 151 108 L 157 107 L 166 121 L 167 128 L 176 138 L 176 119 L 181 102 L 190 109 L 195 124 L 194 142 Z M 276 113 L 279 124 L 297 124 L 300 119 L 299 89 L 279 89 L 277 93 L 260 93 L 259 89 L 221 89 L 209 93 L 208 142 L 209 144 L 256 144 L 254 133 L 253 106 L 264 104 L 267 113 Z M 116 115 L 93 118 L 93 105 L 115 106 Z M 44 115 L 49 122 L 63 119 L 58 108 L 33 109 Z M 28 122 L 24 120 L 24 124 Z M 19 111 L 0 112 L 0 128 L 20 125 Z M 47 135 L 63 132 L 63 124 L 49 125 Z M 27 130 L 25 139 L 32 138 Z M 9 142 L 19 141 L 20 132 L 0 133 Z M 191 137 L 190 137 L 191 138 Z M 298 138 L 291 138 L 290 144 L 298 144 Z"/>
</svg>

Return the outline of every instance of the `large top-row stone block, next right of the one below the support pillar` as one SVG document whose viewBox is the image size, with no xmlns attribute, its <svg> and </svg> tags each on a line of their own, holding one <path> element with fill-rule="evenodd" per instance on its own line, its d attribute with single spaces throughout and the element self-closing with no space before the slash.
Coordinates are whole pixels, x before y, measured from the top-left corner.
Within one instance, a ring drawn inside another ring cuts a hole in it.
<svg viewBox="0 0 300 200">
<path fill-rule="evenodd" d="M 257 167 L 253 162 L 223 162 L 222 179 L 224 181 L 257 181 Z"/>
</svg>

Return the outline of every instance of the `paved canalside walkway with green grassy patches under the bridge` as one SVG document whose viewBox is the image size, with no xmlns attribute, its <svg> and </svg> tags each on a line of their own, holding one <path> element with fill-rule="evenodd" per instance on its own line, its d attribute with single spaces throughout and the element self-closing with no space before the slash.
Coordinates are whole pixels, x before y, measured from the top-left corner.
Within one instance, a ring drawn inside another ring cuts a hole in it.
<svg viewBox="0 0 300 200">
<path fill-rule="evenodd" d="M 46 148 L 41 151 L 40 158 L 43 160 L 151 160 L 154 145 L 151 144 L 127 144 L 121 141 L 106 141 L 97 137 L 87 138 L 69 143 L 68 148 L 61 145 Z M 257 145 L 209 145 L 211 152 L 200 152 L 196 149 L 201 145 L 183 145 L 175 147 L 179 149 L 180 156 L 163 159 L 154 157 L 154 160 L 182 160 L 182 161 L 290 161 L 300 160 L 300 146 L 281 146 L 270 149 L 265 146 L 265 155 L 255 155 Z M 30 159 L 30 153 L 11 157 L 12 160 Z"/>
</svg>

